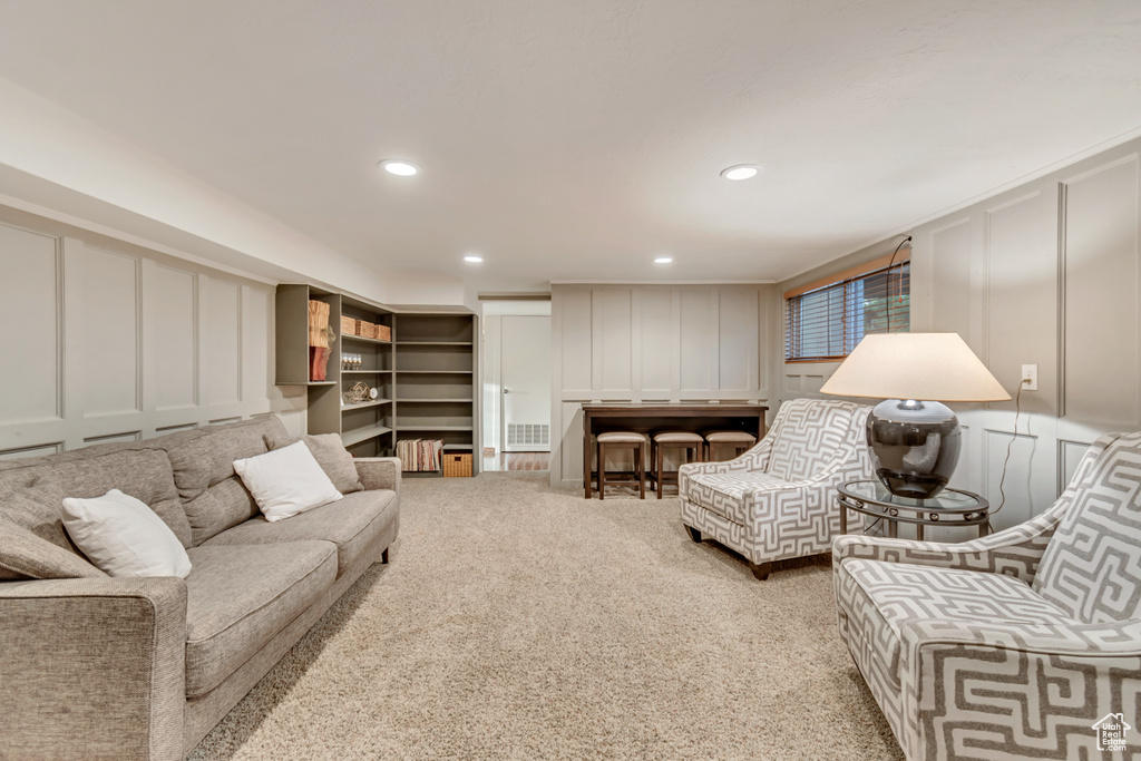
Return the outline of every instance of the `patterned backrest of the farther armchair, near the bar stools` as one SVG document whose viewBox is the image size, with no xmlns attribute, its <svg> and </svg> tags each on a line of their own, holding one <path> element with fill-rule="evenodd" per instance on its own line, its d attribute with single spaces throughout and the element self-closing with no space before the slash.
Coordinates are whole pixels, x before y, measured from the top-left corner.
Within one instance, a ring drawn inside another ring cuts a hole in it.
<svg viewBox="0 0 1141 761">
<path fill-rule="evenodd" d="M 837 458 L 853 456 L 852 426 L 856 418 L 866 419 L 858 414 L 866 408 L 833 399 L 783 403 L 769 434 L 774 439 L 766 472 L 787 481 L 803 480 L 835 464 Z"/>
</svg>

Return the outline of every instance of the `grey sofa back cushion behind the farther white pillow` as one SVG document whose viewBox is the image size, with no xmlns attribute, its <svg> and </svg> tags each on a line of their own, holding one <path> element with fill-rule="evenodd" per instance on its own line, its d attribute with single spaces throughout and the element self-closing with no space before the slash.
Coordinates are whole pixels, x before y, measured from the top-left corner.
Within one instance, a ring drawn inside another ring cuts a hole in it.
<svg viewBox="0 0 1141 761">
<path fill-rule="evenodd" d="M 175 485 L 191 527 L 191 547 L 259 515 L 258 505 L 234 472 L 234 461 L 265 454 L 266 440 L 285 438 L 276 416 L 211 426 L 171 437 L 165 444 Z"/>
</svg>

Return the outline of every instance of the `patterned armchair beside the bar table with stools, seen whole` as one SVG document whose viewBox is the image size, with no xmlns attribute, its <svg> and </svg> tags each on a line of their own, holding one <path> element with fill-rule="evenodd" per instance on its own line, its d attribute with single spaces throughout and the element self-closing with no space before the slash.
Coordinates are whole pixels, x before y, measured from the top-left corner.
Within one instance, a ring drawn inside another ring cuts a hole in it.
<svg viewBox="0 0 1141 761">
<path fill-rule="evenodd" d="M 772 561 L 827 552 L 840 531 L 835 488 L 875 478 L 865 424 L 871 407 L 832 399 L 780 405 L 768 436 L 729 462 L 682 465 L 681 523 L 741 552 L 753 575 Z"/>
</svg>

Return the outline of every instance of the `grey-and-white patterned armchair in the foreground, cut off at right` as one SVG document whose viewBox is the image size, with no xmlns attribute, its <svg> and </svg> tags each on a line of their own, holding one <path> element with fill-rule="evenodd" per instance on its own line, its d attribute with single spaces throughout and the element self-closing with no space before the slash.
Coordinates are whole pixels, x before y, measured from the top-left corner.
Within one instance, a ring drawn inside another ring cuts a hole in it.
<svg viewBox="0 0 1141 761">
<path fill-rule="evenodd" d="M 840 633 L 908 759 L 1141 758 L 1141 434 L 1099 439 L 1028 523 L 832 557 Z"/>
</svg>

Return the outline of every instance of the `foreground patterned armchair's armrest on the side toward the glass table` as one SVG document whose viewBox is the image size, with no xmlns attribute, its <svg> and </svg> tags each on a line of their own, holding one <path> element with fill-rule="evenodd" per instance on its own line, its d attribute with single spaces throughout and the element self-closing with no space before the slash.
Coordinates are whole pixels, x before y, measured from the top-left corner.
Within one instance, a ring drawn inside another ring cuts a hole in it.
<svg viewBox="0 0 1141 761">
<path fill-rule="evenodd" d="M 1033 520 L 989 536 L 953 544 L 845 534 L 832 541 L 832 562 L 844 558 L 909 562 L 917 566 L 984 570 L 1034 581 L 1066 505 L 1055 505 Z"/>
</svg>

